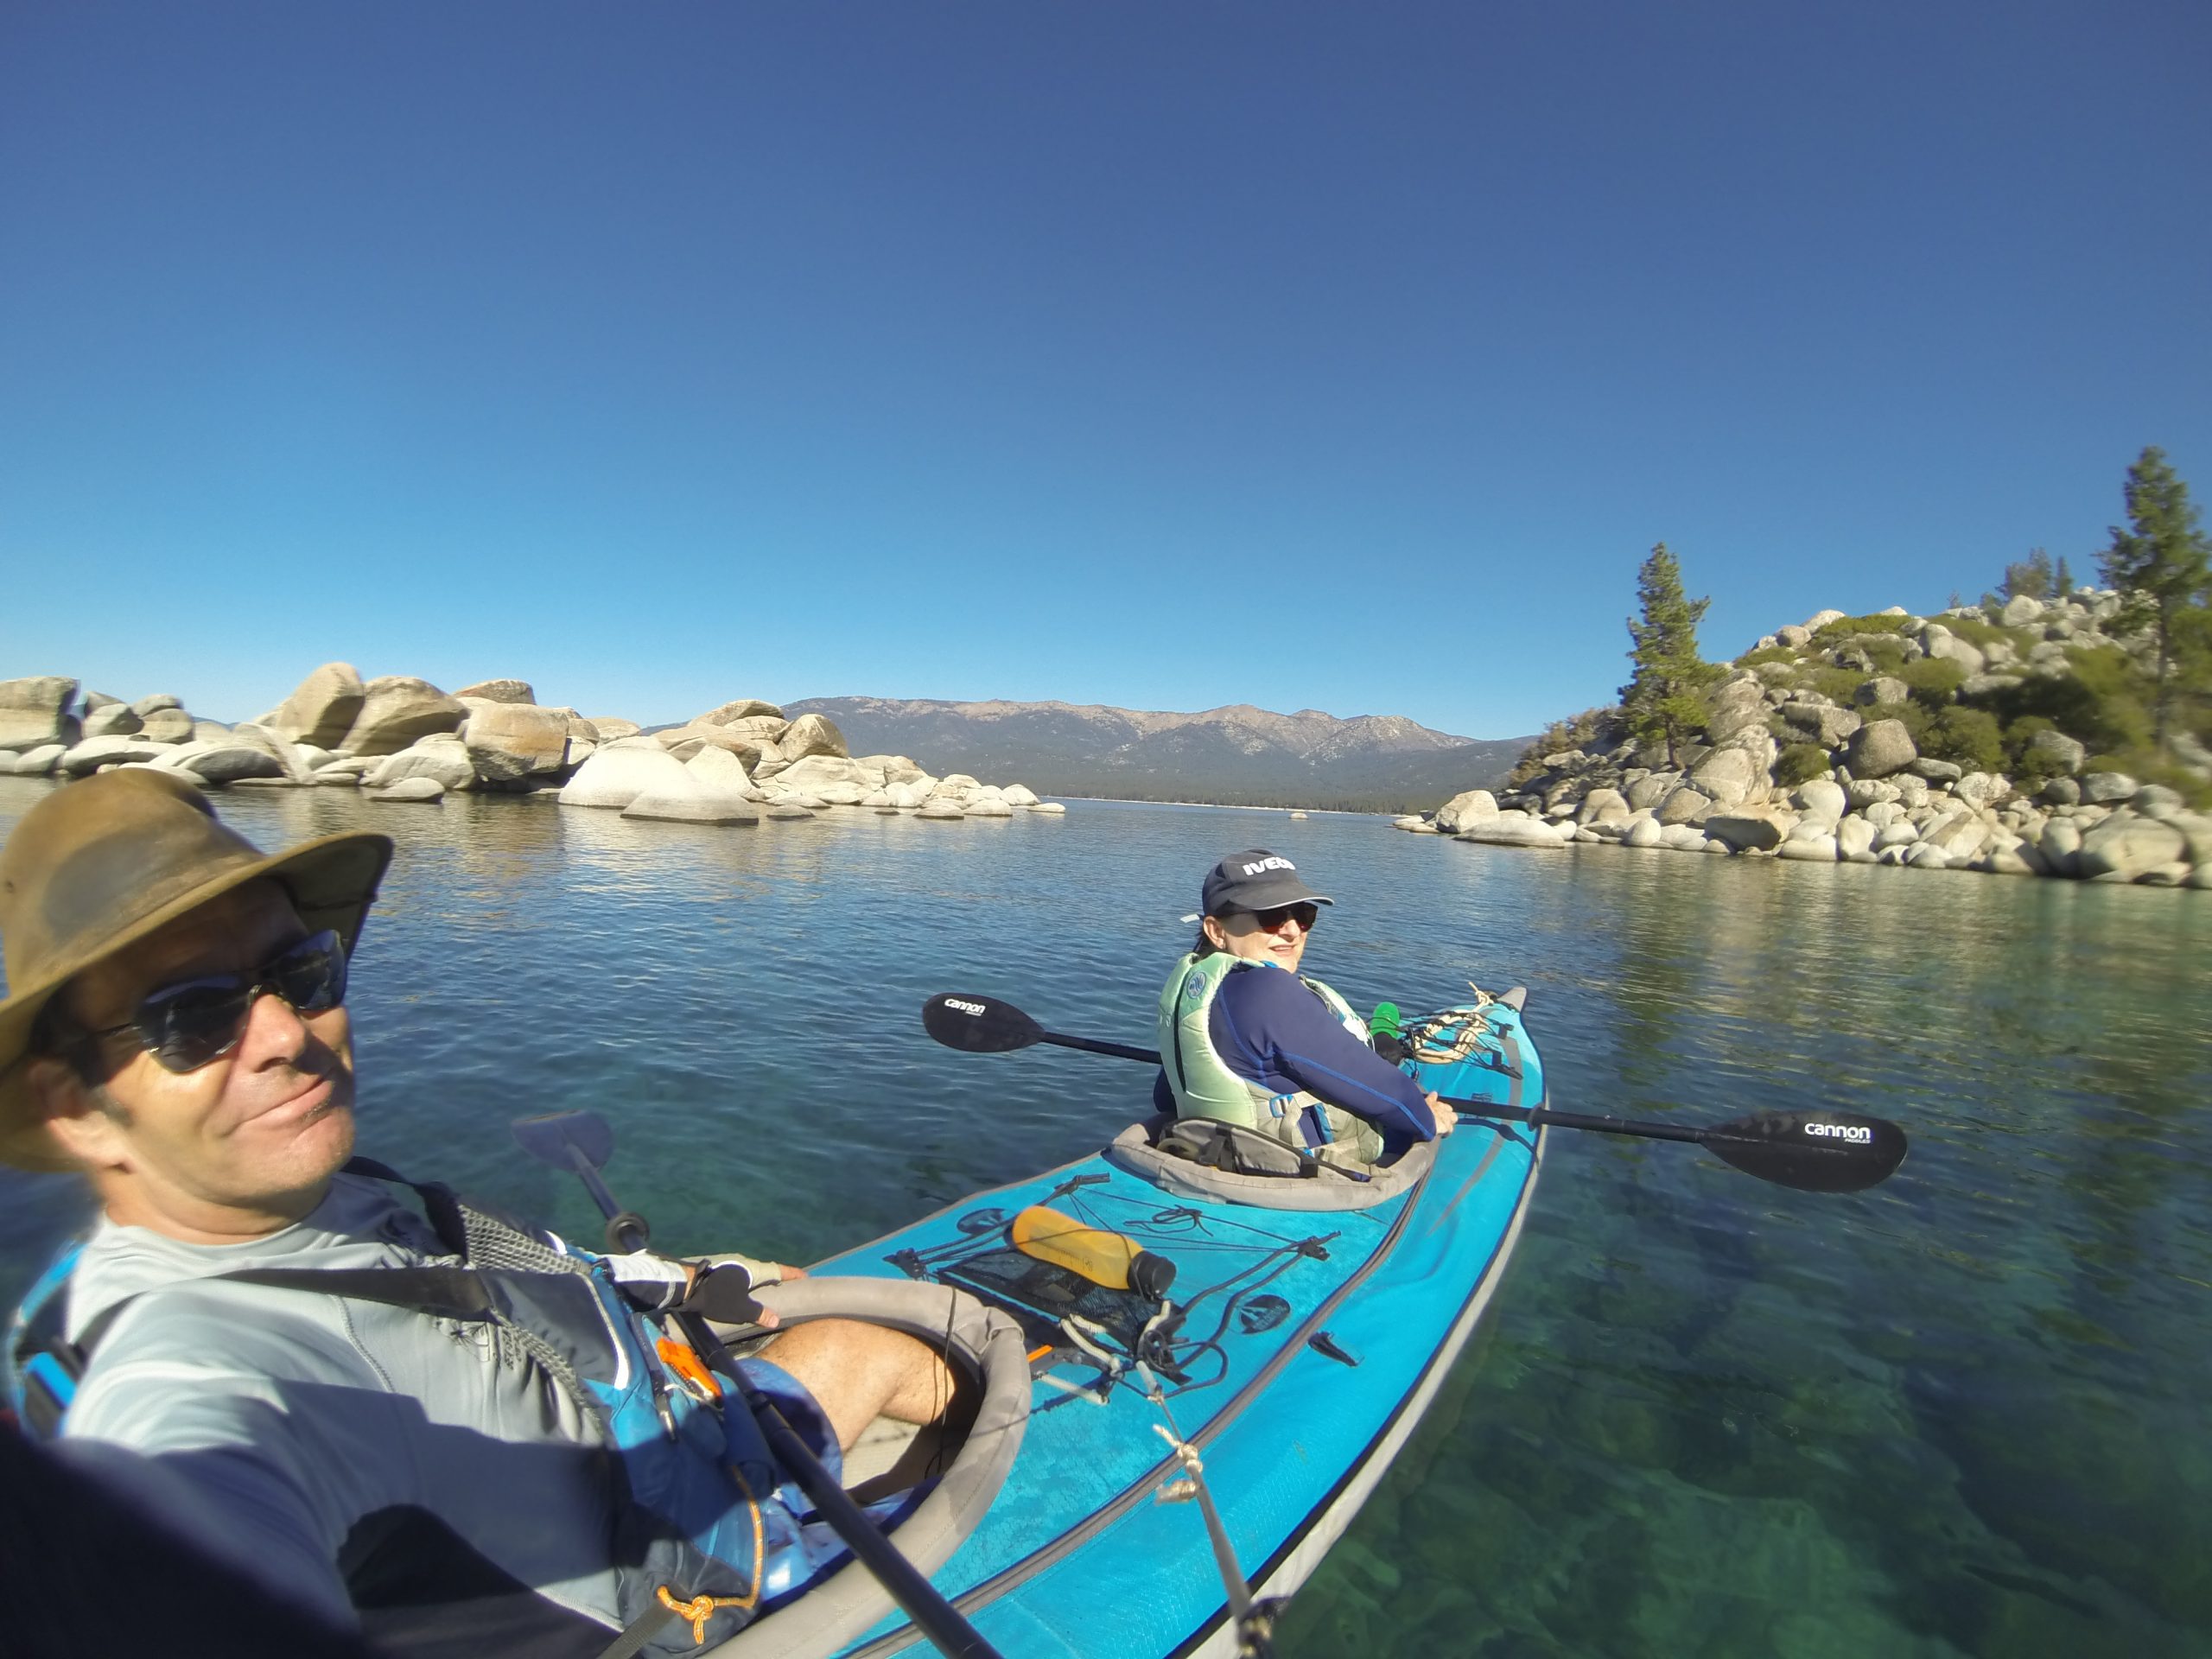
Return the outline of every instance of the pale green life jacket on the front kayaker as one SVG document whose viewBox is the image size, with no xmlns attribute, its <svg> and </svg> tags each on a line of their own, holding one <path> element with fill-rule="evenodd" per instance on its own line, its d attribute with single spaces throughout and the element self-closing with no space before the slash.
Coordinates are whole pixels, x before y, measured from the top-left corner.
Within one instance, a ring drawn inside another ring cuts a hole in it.
<svg viewBox="0 0 2212 1659">
<path fill-rule="evenodd" d="M 1374 1164 L 1383 1157 L 1383 1130 L 1365 1117 L 1303 1088 L 1270 1095 L 1265 1086 L 1239 1077 L 1221 1060 L 1210 1020 L 1221 982 L 1237 971 L 1281 973 L 1267 962 L 1245 962 L 1228 951 L 1186 956 L 1159 993 L 1159 1062 L 1168 1073 L 1168 1088 L 1175 1091 L 1177 1113 L 1259 1130 L 1325 1164 L 1347 1168 Z M 1367 1042 L 1367 1026 L 1352 1013 L 1349 1002 L 1303 973 L 1298 984 L 1321 998 L 1345 1031 Z"/>
</svg>

